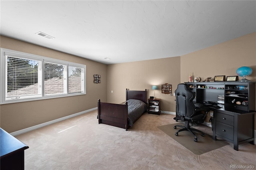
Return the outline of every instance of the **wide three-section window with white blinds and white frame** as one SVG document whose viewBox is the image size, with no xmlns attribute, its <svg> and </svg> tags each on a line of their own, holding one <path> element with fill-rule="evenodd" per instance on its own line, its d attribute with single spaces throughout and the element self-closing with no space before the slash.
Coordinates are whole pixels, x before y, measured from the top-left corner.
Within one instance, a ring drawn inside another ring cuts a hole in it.
<svg viewBox="0 0 256 170">
<path fill-rule="evenodd" d="M 86 94 L 86 65 L 1 48 L 0 104 Z"/>
</svg>

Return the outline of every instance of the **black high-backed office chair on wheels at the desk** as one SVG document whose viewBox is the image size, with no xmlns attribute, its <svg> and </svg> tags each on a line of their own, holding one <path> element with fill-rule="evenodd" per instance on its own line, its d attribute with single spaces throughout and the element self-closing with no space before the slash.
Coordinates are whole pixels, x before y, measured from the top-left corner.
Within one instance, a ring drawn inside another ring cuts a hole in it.
<svg viewBox="0 0 256 170">
<path fill-rule="evenodd" d="M 188 84 L 180 83 L 175 90 L 176 95 L 176 115 L 181 121 L 185 121 L 185 126 L 175 125 L 174 128 L 181 127 L 175 135 L 178 136 L 178 132 L 189 131 L 194 135 L 194 141 L 197 142 L 196 134 L 193 131 L 200 132 L 201 136 L 204 136 L 204 132 L 190 127 L 192 123 L 204 123 L 206 115 L 210 109 L 208 108 L 196 108 L 193 99 L 195 98 L 195 93 L 192 92 Z"/>
</svg>

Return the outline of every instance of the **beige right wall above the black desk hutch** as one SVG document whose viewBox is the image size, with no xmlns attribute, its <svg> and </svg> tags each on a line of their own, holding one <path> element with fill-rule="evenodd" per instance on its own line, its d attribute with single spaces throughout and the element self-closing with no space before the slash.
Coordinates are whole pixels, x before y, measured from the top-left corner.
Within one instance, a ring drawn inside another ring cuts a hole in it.
<svg viewBox="0 0 256 170">
<path fill-rule="evenodd" d="M 212 77 L 214 81 L 217 75 L 236 75 L 236 69 L 242 66 L 252 68 L 247 79 L 256 81 L 256 32 L 182 55 L 180 63 L 181 82 L 188 81 L 189 73 L 202 80 Z"/>
</svg>

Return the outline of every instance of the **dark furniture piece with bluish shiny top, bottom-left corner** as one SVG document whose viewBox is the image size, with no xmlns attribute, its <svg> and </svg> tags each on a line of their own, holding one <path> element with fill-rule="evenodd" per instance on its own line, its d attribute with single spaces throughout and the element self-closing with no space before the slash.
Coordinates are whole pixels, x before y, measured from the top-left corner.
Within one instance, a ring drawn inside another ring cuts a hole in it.
<svg viewBox="0 0 256 170">
<path fill-rule="evenodd" d="M 0 128 L 0 169 L 24 170 L 24 143 Z"/>
</svg>

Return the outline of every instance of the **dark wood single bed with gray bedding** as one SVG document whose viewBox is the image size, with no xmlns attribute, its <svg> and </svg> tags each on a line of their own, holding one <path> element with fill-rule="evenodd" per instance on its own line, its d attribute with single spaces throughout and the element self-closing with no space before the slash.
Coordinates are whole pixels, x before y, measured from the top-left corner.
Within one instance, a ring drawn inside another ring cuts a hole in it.
<svg viewBox="0 0 256 170">
<path fill-rule="evenodd" d="M 98 121 L 115 127 L 128 128 L 147 111 L 147 89 L 130 91 L 126 89 L 126 102 L 103 103 L 98 99 Z"/>
</svg>

